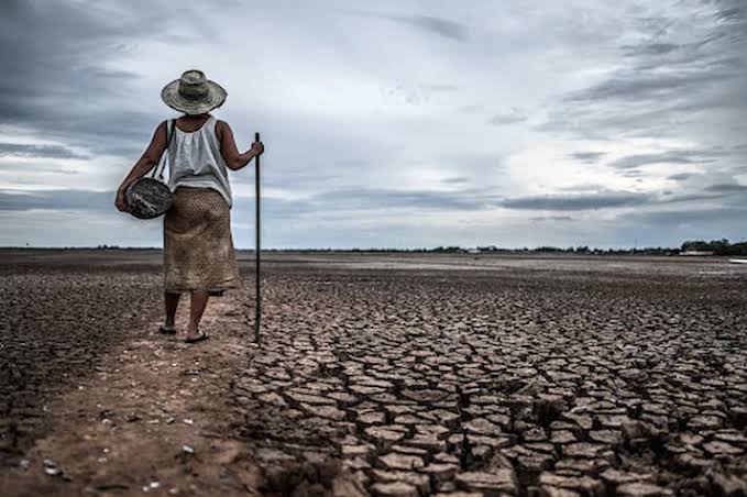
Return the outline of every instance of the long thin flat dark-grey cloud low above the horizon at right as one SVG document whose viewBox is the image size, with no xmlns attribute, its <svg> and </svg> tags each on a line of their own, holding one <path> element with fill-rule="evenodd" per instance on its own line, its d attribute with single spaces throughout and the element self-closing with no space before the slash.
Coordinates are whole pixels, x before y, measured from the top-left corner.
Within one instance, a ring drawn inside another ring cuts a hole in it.
<svg viewBox="0 0 747 497">
<path fill-rule="evenodd" d="M 595 194 L 563 194 L 527 196 L 499 202 L 507 209 L 582 211 L 648 203 L 650 196 L 631 191 L 600 191 Z"/>
</svg>

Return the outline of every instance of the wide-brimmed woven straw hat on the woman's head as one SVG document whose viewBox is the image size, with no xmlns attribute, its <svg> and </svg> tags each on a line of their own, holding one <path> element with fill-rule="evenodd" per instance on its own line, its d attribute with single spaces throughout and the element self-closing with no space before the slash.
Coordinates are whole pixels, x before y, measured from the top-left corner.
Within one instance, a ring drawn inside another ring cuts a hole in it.
<svg viewBox="0 0 747 497">
<path fill-rule="evenodd" d="M 179 79 L 161 90 L 161 98 L 168 107 L 187 114 L 201 114 L 222 106 L 226 95 L 222 86 L 197 69 L 185 70 Z"/>
</svg>

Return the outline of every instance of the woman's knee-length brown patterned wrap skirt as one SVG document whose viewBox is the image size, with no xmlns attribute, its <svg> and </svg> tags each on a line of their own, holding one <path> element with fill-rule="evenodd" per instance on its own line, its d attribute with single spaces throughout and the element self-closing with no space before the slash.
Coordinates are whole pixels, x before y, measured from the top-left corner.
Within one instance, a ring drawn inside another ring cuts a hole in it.
<svg viewBox="0 0 747 497">
<path fill-rule="evenodd" d="M 222 290 L 241 285 L 231 210 L 207 188 L 177 188 L 164 218 L 164 290 Z"/>
</svg>

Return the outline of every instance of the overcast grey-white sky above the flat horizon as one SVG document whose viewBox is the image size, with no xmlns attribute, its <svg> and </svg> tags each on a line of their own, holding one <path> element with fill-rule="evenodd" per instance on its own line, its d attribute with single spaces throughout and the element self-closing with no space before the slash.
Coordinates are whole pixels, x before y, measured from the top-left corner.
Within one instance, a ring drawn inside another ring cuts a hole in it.
<svg viewBox="0 0 747 497">
<path fill-rule="evenodd" d="M 745 0 L 10 0 L 0 44 L 0 245 L 160 246 L 113 190 L 189 68 L 268 247 L 747 238 Z"/>
</svg>

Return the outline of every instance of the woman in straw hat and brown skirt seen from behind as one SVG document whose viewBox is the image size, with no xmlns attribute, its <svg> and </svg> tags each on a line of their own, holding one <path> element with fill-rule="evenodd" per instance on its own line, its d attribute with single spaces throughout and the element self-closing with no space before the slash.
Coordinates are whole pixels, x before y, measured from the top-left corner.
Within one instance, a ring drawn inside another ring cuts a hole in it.
<svg viewBox="0 0 747 497">
<path fill-rule="evenodd" d="M 161 98 L 184 115 L 156 128 L 151 144 L 117 191 L 117 208 L 128 211 L 128 187 L 145 176 L 168 147 L 168 186 L 174 203 L 164 218 L 166 321 L 160 331 L 176 333 L 174 318 L 179 296 L 188 291 L 189 343 L 208 338 L 199 323 L 210 294 L 220 295 L 241 283 L 231 236 L 232 197 L 227 169 L 241 169 L 264 152 L 264 145 L 254 142 L 249 151 L 240 153 L 231 128 L 210 115 L 226 95 L 220 85 L 206 79 L 199 70 L 187 70 L 166 85 Z"/>
</svg>

